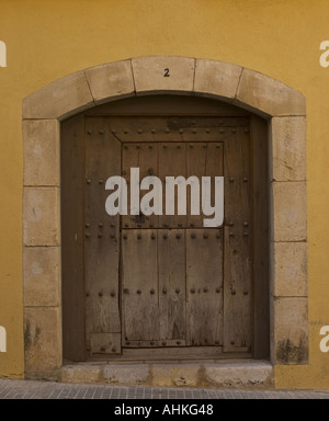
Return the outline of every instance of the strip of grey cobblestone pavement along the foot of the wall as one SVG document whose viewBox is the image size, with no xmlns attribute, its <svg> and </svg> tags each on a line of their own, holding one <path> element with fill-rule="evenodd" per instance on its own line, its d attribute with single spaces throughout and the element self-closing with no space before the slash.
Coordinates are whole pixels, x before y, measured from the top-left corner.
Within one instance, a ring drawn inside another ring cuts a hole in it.
<svg viewBox="0 0 329 421">
<path fill-rule="evenodd" d="M 329 399 L 329 390 L 222 390 L 0 379 L 1 399 Z"/>
</svg>

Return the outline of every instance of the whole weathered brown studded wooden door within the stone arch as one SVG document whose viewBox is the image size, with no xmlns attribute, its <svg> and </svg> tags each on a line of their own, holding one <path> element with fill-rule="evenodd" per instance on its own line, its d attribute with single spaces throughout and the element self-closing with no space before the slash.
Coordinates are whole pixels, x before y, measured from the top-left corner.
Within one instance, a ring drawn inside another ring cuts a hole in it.
<svg viewBox="0 0 329 421">
<path fill-rule="evenodd" d="M 72 167 L 69 172 L 76 180 L 79 171 L 83 174 L 70 204 L 82 206 L 84 246 L 78 254 L 83 258 L 80 272 L 84 281 L 67 281 L 64 289 L 70 296 L 79 291 L 80 297 L 81 286 L 84 291 L 84 321 L 79 320 L 88 356 L 164 357 L 200 352 L 251 356 L 260 348 L 254 345 L 254 335 L 266 331 L 254 320 L 258 314 L 266 317 L 266 307 L 256 309 L 254 297 L 259 295 L 260 303 L 266 287 L 264 281 L 260 286 L 254 268 L 266 270 L 260 246 L 266 224 L 263 218 L 259 230 L 254 229 L 260 202 L 265 202 L 265 187 L 256 173 L 264 178 L 266 168 L 260 163 L 260 136 L 258 141 L 250 136 L 252 118 L 232 111 L 227 105 L 219 116 L 168 112 L 117 116 L 103 106 L 99 114 L 94 111 L 76 118 L 82 138 L 78 148 L 70 144 L 71 132 L 66 132 L 66 159 L 80 157 L 79 170 Z M 67 126 L 73 124 L 68 122 Z M 136 183 L 132 169 L 138 169 L 138 185 L 132 185 Z M 111 194 L 105 183 L 113 175 L 126 182 L 126 215 L 109 216 L 105 212 Z M 151 201 L 152 187 L 143 182 L 146 178 L 161 184 L 160 196 Z M 166 189 L 168 178 L 177 182 L 171 195 Z M 205 224 L 214 215 L 204 213 L 202 178 L 211 179 L 211 208 L 215 205 L 215 178 L 224 178 L 224 220 L 218 226 Z M 195 180 L 198 215 L 191 202 Z M 139 192 L 137 204 L 131 196 L 133 187 Z M 184 195 L 186 212 L 179 213 L 178 202 Z M 161 212 L 144 213 L 145 203 L 160 206 Z M 75 226 L 81 224 L 81 218 L 70 218 Z M 68 244 L 72 248 L 75 241 Z M 259 250 L 257 258 L 254 250 Z M 77 278 L 69 258 L 65 260 L 65 271 Z M 81 305 L 78 307 L 81 312 Z M 69 314 L 68 305 L 66 308 Z M 81 334 L 79 338 L 82 343 Z M 265 353 L 259 352 L 259 357 Z M 82 354 L 80 351 L 78 359 L 83 359 Z"/>
</svg>

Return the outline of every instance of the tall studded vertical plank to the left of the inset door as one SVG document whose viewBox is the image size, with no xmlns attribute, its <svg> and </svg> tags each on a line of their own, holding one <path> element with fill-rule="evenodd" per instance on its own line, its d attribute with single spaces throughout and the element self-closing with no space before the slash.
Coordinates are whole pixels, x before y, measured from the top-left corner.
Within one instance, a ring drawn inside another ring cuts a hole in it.
<svg viewBox="0 0 329 421">
<path fill-rule="evenodd" d="M 121 143 L 111 134 L 109 121 L 86 121 L 86 293 L 87 345 L 91 333 L 120 333 L 118 258 L 120 216 L 109 216 L 105 181 L 121 174 Z M 97 341 L 93 341 L 97 343 Z M 105 346 L 105 344 L 104 344 Z M 101 346 L 101 348 L 104 348 Z M 120 353 L 120 348 L 115 352 Z"/>
</svg>

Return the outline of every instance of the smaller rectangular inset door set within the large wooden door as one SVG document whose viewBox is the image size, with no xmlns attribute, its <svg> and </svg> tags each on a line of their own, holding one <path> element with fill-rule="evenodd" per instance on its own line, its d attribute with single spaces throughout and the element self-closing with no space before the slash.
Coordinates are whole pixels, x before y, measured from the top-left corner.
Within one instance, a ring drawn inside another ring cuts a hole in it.
<svg viewBox="0 0 329 421">
<path fill-rule="evenodd" d="M 198 140 L 123 144 L 124 173 L 158 177 L 163 196 L 163 215 L 123 217 L 123 346 L 223 344 L 223 229 L 204 229 L 203 216 L 189 214 L 186 186 L 186 215 L 166 215 L 167 177 L 223 175 L 223 144 Z"/>
</svg>

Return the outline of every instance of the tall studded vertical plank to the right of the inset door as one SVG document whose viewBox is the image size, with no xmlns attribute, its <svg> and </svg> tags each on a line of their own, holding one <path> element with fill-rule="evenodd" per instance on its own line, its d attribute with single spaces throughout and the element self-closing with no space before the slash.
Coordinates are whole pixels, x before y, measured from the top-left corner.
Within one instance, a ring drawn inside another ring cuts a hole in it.
<svg viewBox="0 0 329 421">
<path fill-rule="evenodd" d="M 248 128 L 225 143 L 224 351 L 250 351 L 252 334 L 252 220 Z"/>
</svg>

